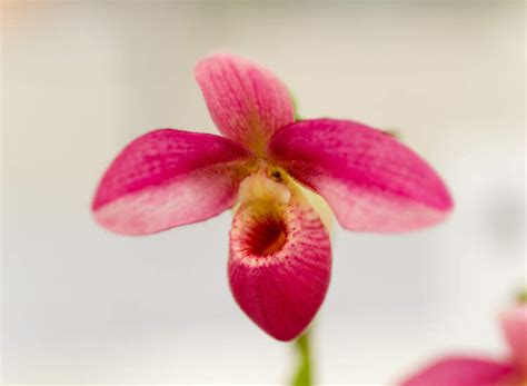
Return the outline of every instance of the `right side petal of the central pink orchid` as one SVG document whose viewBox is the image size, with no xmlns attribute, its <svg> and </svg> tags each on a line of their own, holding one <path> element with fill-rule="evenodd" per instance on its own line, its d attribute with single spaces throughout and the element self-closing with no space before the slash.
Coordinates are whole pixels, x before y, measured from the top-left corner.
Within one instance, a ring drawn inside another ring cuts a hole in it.
<svg viewBox="0 0 527 386">
<path fill-rule="evenodd" d="M 361 123 L 295 122 L 275 133 L 268 154 L 321 195 L 347 229 L 414 230 L 443 220 L 453 208 L 445 184 L 425 160 Z"/>
</svg>

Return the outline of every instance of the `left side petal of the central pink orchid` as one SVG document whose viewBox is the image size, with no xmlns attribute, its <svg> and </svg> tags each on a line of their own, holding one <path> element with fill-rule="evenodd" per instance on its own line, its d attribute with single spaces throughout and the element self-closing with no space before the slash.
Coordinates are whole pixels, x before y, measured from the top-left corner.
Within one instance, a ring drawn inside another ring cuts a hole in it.
<svg viewBox="0 0 527 386">
<path fill-rule="evenodd" d="M 205 220 L 230 208 L 252 156 L 219 136 L 160 129 L 113 160 L 97 189 L 97 221 L 128 235 Z"/>
</svg>

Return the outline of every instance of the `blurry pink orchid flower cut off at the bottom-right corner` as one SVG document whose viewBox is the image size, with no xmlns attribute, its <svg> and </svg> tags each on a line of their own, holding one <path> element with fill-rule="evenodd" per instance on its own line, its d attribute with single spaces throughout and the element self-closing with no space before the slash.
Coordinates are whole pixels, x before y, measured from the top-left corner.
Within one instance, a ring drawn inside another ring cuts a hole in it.
<svg viewBox="0 0 527 386">
<path fill-rule="evenodd" d="M 401 386 L 527 385 L 527 305 L 518 305 L 504 311 L 501 327 L 511 350 L 508 360 L 446 357 L 411 376 Z"/>
</svg>

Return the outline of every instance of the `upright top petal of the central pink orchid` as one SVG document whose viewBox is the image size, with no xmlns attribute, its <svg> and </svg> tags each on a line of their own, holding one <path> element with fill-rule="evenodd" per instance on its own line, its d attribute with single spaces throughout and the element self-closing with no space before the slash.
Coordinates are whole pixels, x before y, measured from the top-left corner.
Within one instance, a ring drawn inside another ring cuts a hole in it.
<svg viewBox="0 0 527 386">
<path fill-rule="evenodd" d="M 196 66 L 210 115 L 227 137 L 256 152 L 275 131 L 294 121 L 287 88 L 270 71 L 232 55 L 213 55 Z"/>
</svg>

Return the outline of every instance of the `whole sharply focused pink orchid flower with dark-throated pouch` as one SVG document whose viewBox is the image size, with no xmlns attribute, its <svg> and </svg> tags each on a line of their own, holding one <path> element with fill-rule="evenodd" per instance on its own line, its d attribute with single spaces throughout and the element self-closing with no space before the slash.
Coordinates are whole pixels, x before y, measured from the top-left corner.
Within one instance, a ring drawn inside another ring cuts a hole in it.
<svg viewBox="0 0 527 386">
<path fill-rule="evenodd" d="M 106 171 L 92 209 L 112 231 L 146 235 L 233 208 L 230 288 L 275 338 L 302 333 L 329 285 L 328 224 L 306 191 L 358 231 L 419 229 L 450 211 L 447 188 L 419 156 L 358 122 L 295 121 L 288 89 L 268 70 L 215 55 L 196 79 L 226 138 L 173 129 L 139 137 Z"/>
</svg>

